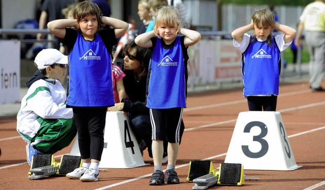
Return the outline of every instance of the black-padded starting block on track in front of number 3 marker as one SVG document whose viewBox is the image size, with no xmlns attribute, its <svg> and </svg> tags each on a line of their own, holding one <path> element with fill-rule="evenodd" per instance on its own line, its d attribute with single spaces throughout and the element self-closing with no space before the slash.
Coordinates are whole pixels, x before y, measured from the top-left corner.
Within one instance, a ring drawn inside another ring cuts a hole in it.
<svg viewBox="0 0 325 190">
<path fill-rule="evenodd" d="M 201 161 L 198 161 L 198 162 L 201 162 Z M 196 164 L 196 165 L 200 166 L 200 164 Z M 202 174 L 203 171 L 207 171 L 207 169 L 208 169 L 207 165 L 205 165 L 205 167 L 204 167 L 204 164 L 201 163 L 201 166 L 203 166 L 203 167 L 197 168 L 197 169 L 194 169 L 194 168 L 190 169 L 189 174 L 192 173 L 191 175 L 193 176 L 193 173 L 195 173 L 194 171 L 199 171 L 200 174 Z M 209 168 L 209 170 L 210 170 L 209 173 L 192 180 L 194 183 L 196 183 L 192 187 L 192 189 L 207 189 L 210 186 L 213 186 L 216 184 L 241 186 L 245 181 L 244 168 L 243 168 L 243 165 L 241 165 L 241 164 L 222 163 L 222 164 L 220 164 L 219 171 L 216 171 L 214 169 L 211 170 L 210 168 Z M 187 180 L 187 181 L 189 181 L 189 180 Z"/>
</svg>

